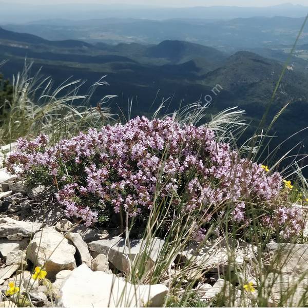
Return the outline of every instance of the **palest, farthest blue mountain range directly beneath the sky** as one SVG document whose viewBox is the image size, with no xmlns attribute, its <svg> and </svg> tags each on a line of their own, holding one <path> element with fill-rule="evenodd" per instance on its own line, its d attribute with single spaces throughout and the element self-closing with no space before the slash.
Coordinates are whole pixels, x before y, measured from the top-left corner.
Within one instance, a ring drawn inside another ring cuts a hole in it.
<svg viewBox="0 0 308 308">
<path fill-rule="evenodd" d="M 30 5 L 14 2 L 0 2 L 0 20 L 3 23 L 24 23 L 37 21 L 37 16 L 46 19 L 85 20 L 91 18 L 138 18 L 166 20 L 174 18 L 228 20 L 238 17 L 304 17 L 307 7 L 283 4 L 268 7 L 199 6 L 199 7 L 159 7 L 104 4 L 54 4 Z"/>
</svg>

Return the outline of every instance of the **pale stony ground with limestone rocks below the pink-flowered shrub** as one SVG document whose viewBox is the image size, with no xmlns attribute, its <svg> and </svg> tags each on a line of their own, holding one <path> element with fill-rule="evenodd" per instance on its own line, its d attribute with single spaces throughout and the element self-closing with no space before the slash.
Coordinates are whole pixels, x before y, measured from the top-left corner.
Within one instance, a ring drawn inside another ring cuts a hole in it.
<svg viewBox="0 0 308 308">
<path fill-rule="evenodd" d="M 125 277 L 131 271 L 131 262 L 145 249 L 141 240 L 131 240 L 128 248 L 119 232 L 72 223 L 65 218 L 62 208 L 42 201 L 46 198 L 39 192 L 44 192 L 44 187 L 40 191 L 29 190 L 5 168 L 0 170 L 0 190 L 0 307 L 158 307 L 164 305 L 171 281 L 180 276 L 179 296 L 185 292 L 185 284 L 195 281 L 193 291 L 204 303 L 223 292 L 233 297 L 234 306 L 249 306 L 258 292 L 264 272 L 257 270 L 260 262 L 256 246 L 237 243 L 230 258 L 228 245 L 223 241 L 208 243 L 201 251 L 198 243 L 191 243 L 176 256 L 159 284 L 133 285 Z M 151 241 L 149 271 L 164 245 L 163 239 Z M 271 267 L 276 269 L 262 280 L 265 284 L 271 281 L 273 305 L 281 299 L 281 290 L 287 290 L 290 284 L 296 285 L 290 305 L 301 303 L 308 282 L 307 247 L 288 244 L 281 249 L 274 242 L 267 245 L 262 268 L 272 266 L 275 258 L 282 256 L 277 258 L 281 263 Z M 192 259 L 193 266 L 181 272 L 179 264 Z M 46 271 L 46 277 L 38 275 L 34 279 L 36 266 Z M 279 277 L 272 279 L 277 272 Z M 232 275 L 227 277 L 226 273 Z M 12 282 L 19 289 L 9 294 Z M 254 294 L 243 288 L 248 282 L 256 289 Z"/>
</svg>

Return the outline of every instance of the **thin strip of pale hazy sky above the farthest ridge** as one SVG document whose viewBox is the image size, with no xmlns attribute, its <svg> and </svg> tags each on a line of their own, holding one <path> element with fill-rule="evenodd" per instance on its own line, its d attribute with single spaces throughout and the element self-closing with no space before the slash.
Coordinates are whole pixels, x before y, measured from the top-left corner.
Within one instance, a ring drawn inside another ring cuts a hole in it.
<svg viewBox="0 0 308 308">
<path fill-rule="evenodd" d="M 4 1 L 5 2 L 5 1 Z M 16 0 L 23 4 L 61 4 L 61 3 L 100 3 L 100 4 L 138 4 L 138 5 L 159 5 L 159 6 L 212 6 L 212 5 L 227 5 L 227 6 L 270 6 L 284 4 L 286 2 L 292 4 L 301 4 L 308 6 L 307 0 Z"/>
</svg>

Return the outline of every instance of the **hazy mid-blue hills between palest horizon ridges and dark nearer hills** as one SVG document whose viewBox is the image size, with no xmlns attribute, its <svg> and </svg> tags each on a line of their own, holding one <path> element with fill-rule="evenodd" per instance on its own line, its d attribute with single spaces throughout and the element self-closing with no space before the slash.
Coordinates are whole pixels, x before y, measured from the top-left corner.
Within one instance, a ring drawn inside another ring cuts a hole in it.
<svg viewBox="0 0 308 308">
<path fill-rule="evenodd" d="M 306 10 L 308 12 L 308 9 Z M 1 14 L 1 13 L 0 13 Z M 165 40 L 198 43 L 233 53 L 243 48 L 281 48 L 296 40 L 304 17 L 250 17 L 232 20 L 103 18 L 91 20 L 46 20 L 2 27 L 38 35 L 47 40 L 81 40 L 91 44 L 158 44 Z M 307 27 L 299 45 L 308 44 Z"/>
</svg>

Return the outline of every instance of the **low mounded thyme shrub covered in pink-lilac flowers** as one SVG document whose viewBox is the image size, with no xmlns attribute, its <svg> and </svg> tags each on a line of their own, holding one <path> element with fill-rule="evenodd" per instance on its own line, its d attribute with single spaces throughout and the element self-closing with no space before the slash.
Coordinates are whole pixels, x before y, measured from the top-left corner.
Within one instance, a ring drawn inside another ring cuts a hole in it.
<svg viewBox="0 0 308 308">
<path fill-rule="evenodd" d="M 298 215 L 275 202 L 282 187 L 278 173 L 240 158 L 210 129 L 171 118 L 138 117 L 52 147 L 44 135 L 20 139 L 7 168 L 32 184 L 53 183 L 67 216 L 87 226 L 110 209 L 146 220 L 153 200 L 169 200 L 170 217 L 201 210 L 198 238 L 226 208 L 232 208 L 230 221 L 248 226 L 251 204 L 263 214 L 259 222 L 275 232 L 289 237 L 300 229 Z"/>
</svg>

